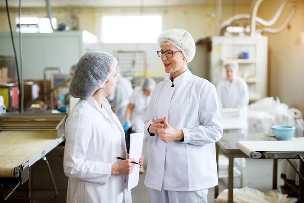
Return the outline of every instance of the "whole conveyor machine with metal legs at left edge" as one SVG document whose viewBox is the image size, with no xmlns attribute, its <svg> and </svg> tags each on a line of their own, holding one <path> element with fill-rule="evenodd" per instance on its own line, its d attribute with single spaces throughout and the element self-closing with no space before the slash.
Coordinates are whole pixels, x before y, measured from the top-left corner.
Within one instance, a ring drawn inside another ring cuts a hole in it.
<svg viewBox="0 0 304 203">
<path fill-rule="evenodd" d="M 27 182 L 31 198 L 30 167 L 43 159 L 55 191 L 46 154 L 65 140 L 66 114 L 7 114 L 0 116 L 0 202 L 7 200 L 19 185 Z M 54 198 L 55 198 L 54 197 Z"/>
</svg>

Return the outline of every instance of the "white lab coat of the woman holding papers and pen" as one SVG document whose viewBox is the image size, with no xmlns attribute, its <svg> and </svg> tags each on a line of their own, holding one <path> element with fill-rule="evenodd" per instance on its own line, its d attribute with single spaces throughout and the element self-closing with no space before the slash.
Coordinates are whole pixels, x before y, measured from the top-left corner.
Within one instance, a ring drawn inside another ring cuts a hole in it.
<svg viewBox="0 0 304 203">
<path fill-rule="evenodd" d="M 64 172 L 67 202 L 131 202 L 126 175 L 111 175 L 112 164 L 127 158 L 125 134 L 106 99 L 80 99 L 65 124 Z"/>
</svg>

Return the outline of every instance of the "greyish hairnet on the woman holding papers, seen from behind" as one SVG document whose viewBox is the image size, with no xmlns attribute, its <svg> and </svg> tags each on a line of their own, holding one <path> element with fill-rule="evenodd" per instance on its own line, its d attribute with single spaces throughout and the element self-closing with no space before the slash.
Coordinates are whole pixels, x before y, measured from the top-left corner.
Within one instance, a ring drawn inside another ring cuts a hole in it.
<svg viewBox="0 0 304 203">
<path fill-rule="evenodd" d="M 89 98 L 103 88 L 117 66 L 117 60 L 103 51 L 85 53 L 78 61 L 69 91 L 75 98 Z M 102 84 L 99 84 L 99 80 Z"/>
</svg>

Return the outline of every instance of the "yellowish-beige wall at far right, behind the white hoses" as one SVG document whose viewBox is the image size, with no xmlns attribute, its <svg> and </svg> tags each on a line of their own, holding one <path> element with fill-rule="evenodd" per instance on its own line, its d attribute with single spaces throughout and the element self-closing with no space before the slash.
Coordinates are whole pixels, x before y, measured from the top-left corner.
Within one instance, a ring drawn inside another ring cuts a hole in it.
<svg viewBox="0 0 304 203">
<path fill-rule="evenodd" d="M 264 1 L 258 16 L 270 20 L 280 6 L 280 1 Z M 304 31 L 304 2 L 298 1 L 296 13 L 288 27 L 277 34 L 267 33 L 269 45 L 270 96 L 304 112 L 304 45 L 300 32 Z M 292 3 L 283 10 L 273 28 L 280 27 L 291 11 Z"/>
</svg>

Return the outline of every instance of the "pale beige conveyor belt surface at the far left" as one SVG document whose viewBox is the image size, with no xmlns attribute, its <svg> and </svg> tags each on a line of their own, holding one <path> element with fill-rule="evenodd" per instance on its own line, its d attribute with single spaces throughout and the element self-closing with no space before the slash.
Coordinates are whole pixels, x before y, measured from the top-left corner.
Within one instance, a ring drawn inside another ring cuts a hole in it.
<svg viewBox="0 0 304 203">
<path fill-rule="evenodd" d="M 29 166 L 62 142 L 56 131 L 0 132 L 0 177 L 14 177 L 14 169 L 29 161 Z"/>
</svg>

